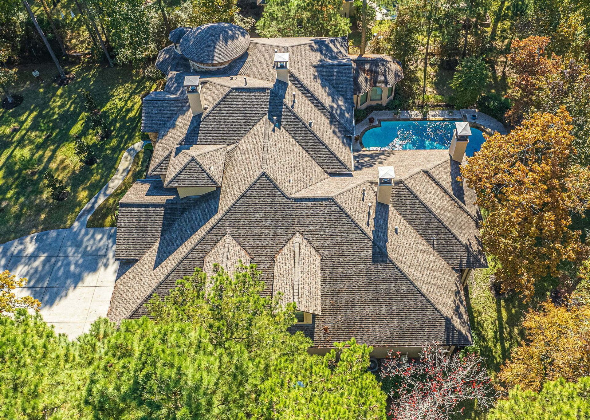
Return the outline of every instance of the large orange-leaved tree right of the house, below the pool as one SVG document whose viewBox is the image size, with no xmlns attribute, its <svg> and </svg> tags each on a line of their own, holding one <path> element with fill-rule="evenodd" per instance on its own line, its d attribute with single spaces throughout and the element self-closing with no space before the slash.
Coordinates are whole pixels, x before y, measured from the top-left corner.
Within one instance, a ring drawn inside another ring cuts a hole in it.
<svg viewBox="0 0 590 420">
<path fill-rule="evenodd" d="M 590 171 L 573 163 L 571 120 L 563 107 L 556 115 L 535 113 L 509 134 L 490 136 L 463 168 L 488 212 L 481 236 L 499 262 L 503 290 L 530 297 L 546 275 L 571 287 L 560 262 L 579 264 L 588 254 L 581 232 L 570 227 L 590 196 Z"/>
</svg>

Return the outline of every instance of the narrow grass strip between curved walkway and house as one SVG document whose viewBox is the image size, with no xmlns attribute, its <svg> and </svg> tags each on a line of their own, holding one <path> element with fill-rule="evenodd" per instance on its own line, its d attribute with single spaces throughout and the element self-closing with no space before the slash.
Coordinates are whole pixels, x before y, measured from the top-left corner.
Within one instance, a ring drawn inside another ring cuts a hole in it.
<svg viewBox="0 0 590 420">
<path fill-rule="evenodd" d="M 148 170 L 149 160 L 152 156 L 151 150 L 140 150 L 137 155 L 135 155 L 135 159 L 133 159 L 133 164 L 129 169 L 129 173 L 127 173 L 126 178 L 123 182 L 113 191 L 113 193 L 104 200 L 99 208 L 97 208 L 94 213 L 90 216 L 88 220 L 87 227 L 89 228 L 102 228 L 102 227 L 114 227 L 117 225 L 117 219 L 115 218 L 115 213 L 117 211 L 117 205 L 119 204 L 119 200 L 125 195 L 127 190 L 131 188 L 133 183 L 137 179 L 143 179 L 146 175 Z"/>
</svg>

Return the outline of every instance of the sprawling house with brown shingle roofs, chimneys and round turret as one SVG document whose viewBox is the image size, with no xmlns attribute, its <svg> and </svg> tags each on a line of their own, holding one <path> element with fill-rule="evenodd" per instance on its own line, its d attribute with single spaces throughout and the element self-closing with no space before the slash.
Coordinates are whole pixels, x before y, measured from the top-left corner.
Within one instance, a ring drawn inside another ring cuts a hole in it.
<svg viewBox="0 0 590 420">
<path fill-rule="evenodd" d="M 350 337 L 376 357 L 470 344 L 462 281 L 486 258 L 474 192 L 457 181 L 461 133 L 452 150 L 353 153 L 371 65 L 346 38 L 208 24 L 170 39 L 156 63 L 165 90 L 143 100 L 148 179 L 119 205 L 110 319 L 145 315 L 195 267 L 242 260 L 265 293 L 297 303 L 311 352 Z"/>
</svg>

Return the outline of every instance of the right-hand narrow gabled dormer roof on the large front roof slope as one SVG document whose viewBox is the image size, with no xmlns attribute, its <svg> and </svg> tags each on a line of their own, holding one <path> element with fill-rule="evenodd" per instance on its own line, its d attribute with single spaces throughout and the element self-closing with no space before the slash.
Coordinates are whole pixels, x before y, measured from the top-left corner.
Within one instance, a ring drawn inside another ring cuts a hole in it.
<svg viewBox="0 0 590 420">
<path fill-rule="evenodd" d="M 295 302 L 298 310 L 321 315 L 321 259 L 296 232 L 274 257 L 273 296 L 280 292 L 281 304 Z"/>
</svg>

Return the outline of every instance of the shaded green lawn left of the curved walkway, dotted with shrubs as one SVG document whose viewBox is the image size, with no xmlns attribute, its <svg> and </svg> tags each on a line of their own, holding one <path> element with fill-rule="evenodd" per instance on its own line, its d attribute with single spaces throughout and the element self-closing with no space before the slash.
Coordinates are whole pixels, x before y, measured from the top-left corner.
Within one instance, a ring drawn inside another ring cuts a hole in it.
<svg viewBox="0 0 590 420">
<path fill-rule="evenodd" d="M 40 70 L 40 87 L 31 75 Z M 67 67 L 76 74 L 72 83 L 50 83 L 57 71 L 50 64 L 19 69 L 13 94 L 24 97 L 12 110 L 0 110 L 0 243 L 47 229 L 67 228 L 89 199 L 113 176 L 124 150 L 139 141 L 143 93 L 153 90 L 152 81 L 127 67 L 99 64 Z M 91 132 L 79 91 L 89 90 L 107 114 L 113 134 L 99 142 Z M 98 162 L 87 166 L 74 155 L 73 135 L 96 146 Z M 25 175 L 19 162 L 34 156 L 39 171 Z M 45 188 L 47 169 L 63 179 L 70 194 L 55 202 Z"/>
</svg>

